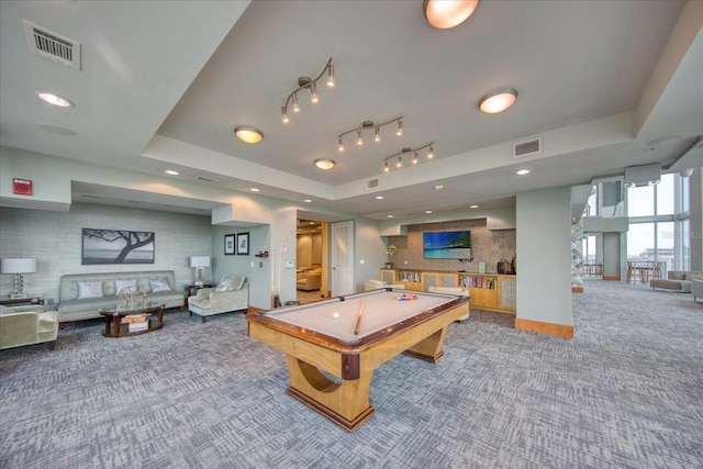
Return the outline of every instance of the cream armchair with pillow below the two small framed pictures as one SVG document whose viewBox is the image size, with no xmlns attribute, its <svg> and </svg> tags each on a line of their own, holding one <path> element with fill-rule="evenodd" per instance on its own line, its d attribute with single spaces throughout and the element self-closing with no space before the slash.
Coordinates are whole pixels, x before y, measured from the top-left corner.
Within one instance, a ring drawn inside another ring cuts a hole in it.
<svg viewBox="0 0 703 469">
<path fill-rule="evenodd" d="M 244 276 L 224 276 L 216 288 L 201 288 L 188 299 L 188 312 L 202 317 L 249 308 L 249 283 Z"/>
</svg>

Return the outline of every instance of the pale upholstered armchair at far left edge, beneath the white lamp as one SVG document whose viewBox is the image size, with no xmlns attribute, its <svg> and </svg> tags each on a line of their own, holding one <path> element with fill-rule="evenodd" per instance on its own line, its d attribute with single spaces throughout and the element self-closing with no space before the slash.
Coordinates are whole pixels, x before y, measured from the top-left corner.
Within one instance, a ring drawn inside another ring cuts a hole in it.
<svg viewBox="0 0 703 469">
<path fill-rule="evenodd" d="M 40 304 L 0 309 L 0 349 L 44 342 L 54 349 L 58 336 L 56 311 L 45 312 Z"/>
</svg>

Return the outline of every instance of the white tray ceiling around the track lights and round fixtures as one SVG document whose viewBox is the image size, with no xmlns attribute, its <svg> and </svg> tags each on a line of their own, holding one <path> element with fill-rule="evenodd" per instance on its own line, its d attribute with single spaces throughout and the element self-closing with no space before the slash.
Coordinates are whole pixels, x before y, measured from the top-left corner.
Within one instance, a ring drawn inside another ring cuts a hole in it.
<svg viewBox="0 0 703 469">
<path fill-rule="evenodd" d="M 32 55 L 23 20 L 81 43 L 82 68 Z M 330 57 L 337 86 L 321 81 L 315 105 L 301 93 L 300 114 L 283 125 L 280 108 L 298 78 L 317 76 Z M 0 60 L 1 145 L 159 176 L 172 168 L 181 180 L 215 179 L 199 182 L 209 187 L 311 199 L 313 212 L 381 220 L 504 206 L 524 190 L 703 159 L 700 144 L 682 157 L 703 134 L 700 1 L 482 0 L 469 21 L 440 31 L 420 0 L 3 0 Z M 479 99 L 500 87 L 515 88 L 516 103 L 481 113 Z M 37 90 L 76 105 L 52 108 Z M 400 115 L 402 137 L 389 125 L 381 143 L 367 131 L 362 147 L 350 135 L 337 153 L 338 134 Z M 264 141 L 239 142 L 236 125 L 259 129 Z M 513 158 L 513 143 L 533 137 L 542 153 Z M 386 157 L 428 142 L 434 161 L 382 172 Z M 336 166 L 321 171 L 317 158 Z M 532 172 L 515 176 L 521 167 Z M 367 189 L 369 179 L 379 187 Z M 74 192 L 135 197 L 85 183 Z"/>
</svg>

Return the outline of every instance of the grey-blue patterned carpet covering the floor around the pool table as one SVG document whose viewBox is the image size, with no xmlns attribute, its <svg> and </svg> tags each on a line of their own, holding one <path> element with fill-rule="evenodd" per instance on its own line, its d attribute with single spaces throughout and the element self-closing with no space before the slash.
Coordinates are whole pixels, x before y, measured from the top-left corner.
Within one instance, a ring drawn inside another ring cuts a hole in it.
<svg viewBox="0 0 703 469">
<path fill-rule="evenodd" d="M 703 303 L 603 281 L 573 301 L 572 340 L 475 311 L 438 364 L 384 364 L 354 434 L 284 393 L 241 314 L 120 339 L 82 322 L 0 351 L 0 467 L 703 467 Z"/>
</svg>

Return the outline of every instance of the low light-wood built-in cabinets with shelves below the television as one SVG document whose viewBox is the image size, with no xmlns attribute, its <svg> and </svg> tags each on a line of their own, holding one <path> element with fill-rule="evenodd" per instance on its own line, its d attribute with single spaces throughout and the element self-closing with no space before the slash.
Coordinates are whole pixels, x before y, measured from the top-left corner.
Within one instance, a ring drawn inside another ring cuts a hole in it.
<svg viewBox="0 0 703 469">
<path fill-rule="evenodd" d="M 404 283 L 405 289 L 412 291 L 428 291 L 431 287 L 465 287 L 469 290 L 471 305 L 475 308 L 516 312 L 515 276 L 381 269 L 381 280 L 388 284 Z"/>
</svg>

